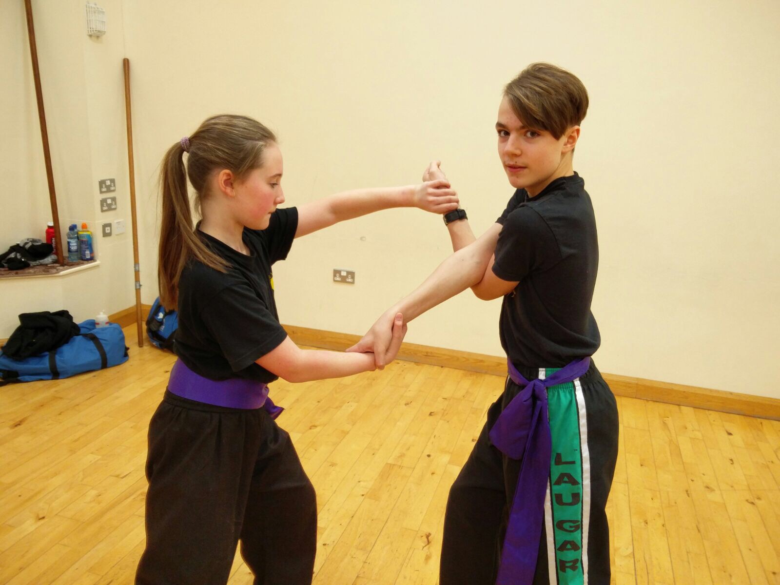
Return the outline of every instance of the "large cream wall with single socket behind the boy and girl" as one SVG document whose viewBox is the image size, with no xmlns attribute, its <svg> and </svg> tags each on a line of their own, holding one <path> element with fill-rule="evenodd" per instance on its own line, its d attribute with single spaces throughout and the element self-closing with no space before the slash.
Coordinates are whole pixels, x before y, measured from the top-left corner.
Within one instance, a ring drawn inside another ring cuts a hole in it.
<svg viewBox="0 0 780 585">
<path fill-rule="evenodd" d="M 512 193 L 492 129 L 502 85 L 547 60 L 590 91 L 575 168 L 601 238 L 601 370 L 780 398 L 780 374 L 743 375 L 780 355 L 776 2 L 122 8 L 145 303 L 155 296 L 157 166 L 207 115 L 246 113 L 277 131 L 289 204 L 411 183 L 441 158 L 482 232 Z M 448 252 L 441 220 L 417 210 L 308 236 L 275 268 L 280 316 L 363 333 Z M 356 285 L 330 282 L 332 268 L 356 270 Z M 406 339 L 498 355 L 499 308 L 463 294 L 414 321 Z"/>
</svg>

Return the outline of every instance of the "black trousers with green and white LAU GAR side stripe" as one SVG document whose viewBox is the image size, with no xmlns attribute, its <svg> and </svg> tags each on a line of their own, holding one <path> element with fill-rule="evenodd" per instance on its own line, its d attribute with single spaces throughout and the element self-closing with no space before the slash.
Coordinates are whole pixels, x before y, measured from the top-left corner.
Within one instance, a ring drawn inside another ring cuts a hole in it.
<svg viewBox="0 0 780 585">
<path fill-rule="evenodd" d="M 520 373 L 527 380 L 540 377 L 539 370 Z M 503 394 L 488 410 L 480 437 L 449 491 L 440 585 L 495 585 L 522 461 L 498 451 L 489 432 L 520 390 L 507 378 Z M 574 383 L 548 388 L 548 403 L 553 460 L 537 568 L 533 583 L 517 585 L 608 585 L 609 527 L 605 508 L 618 455 L 615 396 L 591 362 L 587 373 Z M 556 452 L 561 453 L 558 459 Z M 561 471 L 572 472 L 566 473 L 569 493 L 560 500 L 551 494 L 557 489 L 556 462 L 569 463 Z M 573 490 L 576 502 L 581 502 L 574 522 L 562 520 L 569 510 L 555 505 L 574 502 Z M 556 528 L 563 528 L 566 534 Z M 576 548 L 580 550 L 574 552 Z"/>
</svg>

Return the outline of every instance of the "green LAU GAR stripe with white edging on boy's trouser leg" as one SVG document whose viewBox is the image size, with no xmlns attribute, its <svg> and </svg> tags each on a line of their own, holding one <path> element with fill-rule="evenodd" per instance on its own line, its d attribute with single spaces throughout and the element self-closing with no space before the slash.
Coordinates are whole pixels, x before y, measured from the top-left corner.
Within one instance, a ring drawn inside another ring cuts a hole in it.
<svg viewBox="0 0 780 585">
<path fill-rule="evenodd" d="M 546 376 L 557 369 L 549 368 Z M 579 381 L 576 381 L 579 384 Z M 575 383 L 548 388 L 552 452 L 550 460 L 550 507 L 545 510 L 548 548 L 555 549 L 558 585 L 581 585 L 583 577 L 583 461 L 580 443 L 580 413 Z M 552 528 L 551 540 L 549 528 Z M 549 555 L 553 561 L 552 555 Z M 552 567 L 551 567 L 552 569 Z M 551 571 L 550 582 L 555 583 Z"/>
</svg>

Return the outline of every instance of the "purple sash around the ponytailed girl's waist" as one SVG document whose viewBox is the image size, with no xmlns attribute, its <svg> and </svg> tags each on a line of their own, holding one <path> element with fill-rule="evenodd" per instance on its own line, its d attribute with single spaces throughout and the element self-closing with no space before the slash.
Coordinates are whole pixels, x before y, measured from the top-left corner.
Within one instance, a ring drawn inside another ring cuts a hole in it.
<svg viewBox="0 0 780 585">
<path fill-rule="evenodd" d="M 262 382 L 246 378 L 210 380 L 190 370 L 182 360 L 176 360 L 171 368 L 168 392 L 215 406 L 251 410 L 262 407 L 271 418 L 284 410 L 268 398 L 268 385 Z"/>
</svg>

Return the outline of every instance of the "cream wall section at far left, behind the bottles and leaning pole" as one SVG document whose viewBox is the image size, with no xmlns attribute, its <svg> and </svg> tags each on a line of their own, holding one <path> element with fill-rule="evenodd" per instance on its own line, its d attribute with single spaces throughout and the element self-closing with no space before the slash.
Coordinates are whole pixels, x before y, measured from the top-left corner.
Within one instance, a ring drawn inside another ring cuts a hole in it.
<svg viewBox="0 0 780 585">
<path fill-rule="evenodd" d="M 135 303 L 130 239 L 122 57 L 125 56 L 121 0 L 101 0 L 108 33 L 87 37 L 84 4 L 33 2 L 41 85 L 44 92 L 62 241 L 69 223 L 87 222 L 101 264 L 88 271 L 51 278 L 0 280 L 0 338 L 19 324 L 17 315 L 67 309 L 76 321 L 100 310 L 112 313 Z M 51 218 L 38 126 L 35 89 L 23 2 L 0 0 L 2 67 L 0 93 L 0 246 L 43 237 Z M 6 18 L 7 16 L 7 18 Z M 6 34 L 7 33 L 7 34 Z M 5 129 L 8 129 L 6 133 Z M 100 212 L 97 181 L 114 177 L 118 210 Z M 125 218 L 127 232 L 103 239 L 98 222 Z"/>
</svg>

